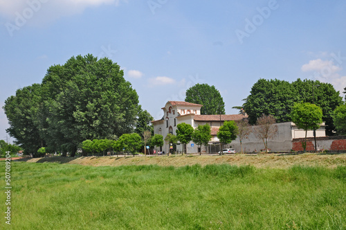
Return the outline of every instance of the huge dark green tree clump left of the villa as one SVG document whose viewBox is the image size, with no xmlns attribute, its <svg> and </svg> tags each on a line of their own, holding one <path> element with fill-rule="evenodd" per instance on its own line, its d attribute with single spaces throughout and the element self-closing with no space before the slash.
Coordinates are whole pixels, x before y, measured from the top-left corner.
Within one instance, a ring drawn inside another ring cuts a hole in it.
<svg viewBox="0 0 346 230">
<path fill-rule="evenodd" d="M 134 130 L 138 94 L 107 57 L 71 57 L 49 67 L 40 85 L 17 90 L 3 107 L 10 136 L 30 152 L 70 152 L 86 139 L 116 139 Z"/>
</svg>

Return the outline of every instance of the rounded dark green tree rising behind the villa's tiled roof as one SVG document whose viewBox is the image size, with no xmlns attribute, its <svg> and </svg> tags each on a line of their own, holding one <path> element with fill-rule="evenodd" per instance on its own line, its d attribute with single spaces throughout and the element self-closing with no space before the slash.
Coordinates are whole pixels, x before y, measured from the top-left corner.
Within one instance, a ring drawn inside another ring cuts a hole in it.
<svg viewBox="0 0 346 230">
<path fill-rule="evenodd" d="M 214 85 L 196 84 L 186 90 L 185 101 L 203 105 L 201 114 L 225 114 L 225 103 Z"/>
</svg>

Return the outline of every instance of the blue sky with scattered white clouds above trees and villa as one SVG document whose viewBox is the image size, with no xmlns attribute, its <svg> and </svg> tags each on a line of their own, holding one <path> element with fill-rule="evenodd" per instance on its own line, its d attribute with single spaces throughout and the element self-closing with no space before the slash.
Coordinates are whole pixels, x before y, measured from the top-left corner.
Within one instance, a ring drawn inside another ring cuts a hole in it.
<svg viewBox="0 0 346 230">
<path fill-rule="evenodd" d="M 342 0 L 0 0 L 0 106 L 51 65 L 87 53 L 117 62 L 156 119 L 196 83 L 215 85 L 227 114 L 260 78 L 341 91 L 345 12 Z M 7 127 L 1 108 L 0 139 Z"/>
</svg>

